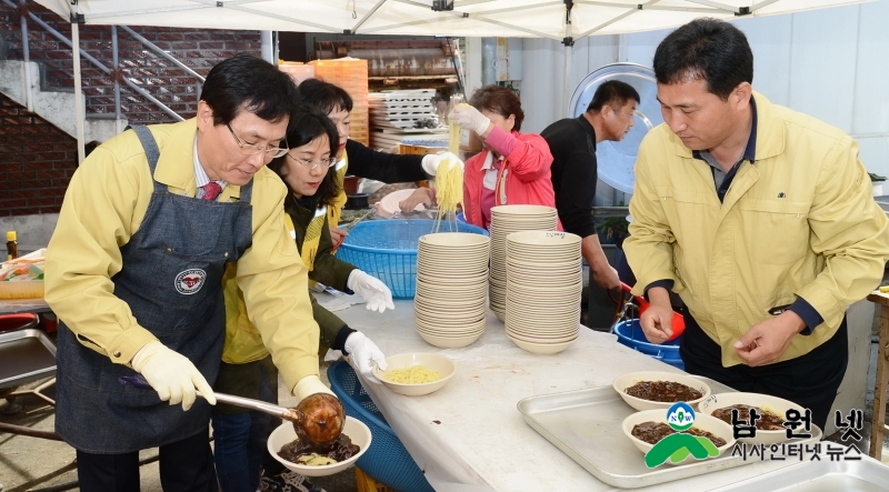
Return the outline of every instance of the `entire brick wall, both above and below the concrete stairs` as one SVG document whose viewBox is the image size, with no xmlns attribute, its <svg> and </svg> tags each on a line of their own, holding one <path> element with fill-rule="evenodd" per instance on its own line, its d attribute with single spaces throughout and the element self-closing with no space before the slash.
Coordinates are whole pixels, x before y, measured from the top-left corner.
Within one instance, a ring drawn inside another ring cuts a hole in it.
<svg viewBox="0 0 889 492">
<path fill-rule="evenodd" d="M 29 1 L 27 8 L 71 39 L 71 26 L 56 13 Z M 218 62 L 238 52 L 260 54 L 257 31 L 224 31 L 133 27 L 179 61 L 207 76 Z M 80 26 L 81 50 L 112 68 L 111 27 Z M 48 87 L 73 88 L 71 49 L 36 22 L 28 22 L 31 61 L 43 66 Z M 18 9 L 0 2 L 0 46 L 7 59 L 22 59 L 21 17 Z M 194 116 L 198 79 L 172 66 L 118 29 L 121 73 L 136 80 L 151 96 L 183 118 Z M 1 56 L 2 53 L 0 53 Z M 114 113 L 112 78 L 81 57 L 87 113 Z M 121 112 L 131 123 L 173 121 L 154 103 L 121 83 Z M 0 217 L 54 213 L 61 207 L 77 168 L 77 141 L 23 107 L 0 94 Z"/>
</svg>

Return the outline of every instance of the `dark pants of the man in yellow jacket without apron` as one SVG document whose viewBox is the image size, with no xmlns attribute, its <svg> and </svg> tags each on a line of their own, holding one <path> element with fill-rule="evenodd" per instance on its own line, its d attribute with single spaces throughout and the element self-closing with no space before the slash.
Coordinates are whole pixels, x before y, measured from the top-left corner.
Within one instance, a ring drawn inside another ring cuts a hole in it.
<svg viewBox="0 0 889 492">
<path fill-rule="evenodd" d="M 710 378 L 737 391 L 790 400 L 811 410 L 812 423 L 823 431 L 849 362 L 845 317 L 830 340 L 805 355 L 758 368 L 746 364 L 723 368 L 719 344 L 707 337 L 687 311 L 682 314 L 686 318 L 686 331 L 679 353 L 686 372 Z"/>
</svg>

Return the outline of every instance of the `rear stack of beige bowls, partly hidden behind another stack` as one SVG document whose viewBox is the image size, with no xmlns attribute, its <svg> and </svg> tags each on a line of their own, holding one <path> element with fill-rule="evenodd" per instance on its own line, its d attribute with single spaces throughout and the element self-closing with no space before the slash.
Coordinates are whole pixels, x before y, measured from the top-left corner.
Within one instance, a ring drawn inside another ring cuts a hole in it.
<svg viewBox="0 0 889 492">
<path fill-rule="evenodd" d="M 499 205 L 491 209 L 491 311 L 500 321 L 507 313 L 507 235 L 520 231 L 555 231 L 556 209 L 543 205 Z"/>
</svg>

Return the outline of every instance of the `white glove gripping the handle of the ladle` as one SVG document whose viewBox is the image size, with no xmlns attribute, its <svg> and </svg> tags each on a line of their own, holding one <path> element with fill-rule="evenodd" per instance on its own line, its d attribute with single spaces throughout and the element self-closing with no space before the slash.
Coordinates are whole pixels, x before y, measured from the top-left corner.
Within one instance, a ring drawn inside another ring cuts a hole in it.
<svg viewBox="0 0 889 492">
<path fill-rule="evenodd" d="M 196 390 L 211 405 L 216 404 L 213 389 L 198 368 L 187 357 L 157 340 L 146 343 L 136 353 L 132 369 L 146 378 L 161 400 L 169 400 L 171 405 L 182 402 L 182 410 L 190 409 L 198 398 Z"/>
</svg>

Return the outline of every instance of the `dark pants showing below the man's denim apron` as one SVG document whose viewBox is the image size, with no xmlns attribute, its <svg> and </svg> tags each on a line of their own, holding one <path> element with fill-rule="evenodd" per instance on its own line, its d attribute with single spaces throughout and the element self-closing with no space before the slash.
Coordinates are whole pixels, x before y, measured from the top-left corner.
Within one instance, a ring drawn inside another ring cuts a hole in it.
<svg viewBox="0 0 889 492">
<path fill-rule="evenodd" d="M 139 453 L 93 454 L 78 450 L 81 492 L 138 492 Z M 160 446 L 160 484 L 164 492 L 217 492 L 209 429 Z"/>
</svg>

